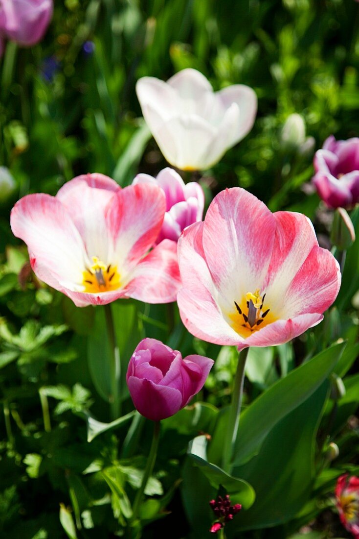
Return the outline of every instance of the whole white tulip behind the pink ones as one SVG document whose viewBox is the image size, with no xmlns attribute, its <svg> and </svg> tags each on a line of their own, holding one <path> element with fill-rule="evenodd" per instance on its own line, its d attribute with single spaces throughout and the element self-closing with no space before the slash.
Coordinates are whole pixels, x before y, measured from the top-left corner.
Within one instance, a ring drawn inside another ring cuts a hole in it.
<svg viewBox="0 0 359 539">
<path fill-rule="evenodd" d="M 136 85 L 142 113 L 168 163 L 206 170 L 251 130 L 257 97 L 236 84 L 213 92 L 202 73 L 185 69 L 167 82 L 143 77 Z"/>
</svg>

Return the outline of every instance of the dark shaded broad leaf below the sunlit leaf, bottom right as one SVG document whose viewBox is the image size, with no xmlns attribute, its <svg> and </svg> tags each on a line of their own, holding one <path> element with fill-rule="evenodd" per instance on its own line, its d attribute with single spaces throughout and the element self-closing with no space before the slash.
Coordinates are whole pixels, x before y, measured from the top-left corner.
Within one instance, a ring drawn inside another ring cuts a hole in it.
<svg viewBox="0 0 359 539">
<path fill-rule="evenodd" d="M 316 432 L 328 393 L 329 382 L 325 380 L 272 428 L 255 457 L 234 468 L 233 473 L 256 490 L 252 507 L 233 522 L 237 534 L 239 530 L 288 522 L 309 501 Z"/>
</svg>

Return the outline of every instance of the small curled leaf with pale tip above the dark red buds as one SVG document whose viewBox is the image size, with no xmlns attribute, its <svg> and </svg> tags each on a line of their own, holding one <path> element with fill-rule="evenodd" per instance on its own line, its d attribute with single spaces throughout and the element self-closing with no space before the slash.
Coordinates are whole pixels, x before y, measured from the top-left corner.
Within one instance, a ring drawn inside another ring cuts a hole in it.
<svg viewBox="0 0 359 539">
<path fill-rule="evenodd" d="M 208 462 L 207 460 L 207 437 L 205 435 L 197 436 L 188 446 L 187 454 L 195 464 L 205 474 L 210 484 L 218 488 L 222 485 L 229 494 L 235 493 L 241 495 L 241 503 L 245 509 L 248 509 L 255 500 L 255 491 L 247 481 L 224 472 L 222 468 Z"/>
</svg>

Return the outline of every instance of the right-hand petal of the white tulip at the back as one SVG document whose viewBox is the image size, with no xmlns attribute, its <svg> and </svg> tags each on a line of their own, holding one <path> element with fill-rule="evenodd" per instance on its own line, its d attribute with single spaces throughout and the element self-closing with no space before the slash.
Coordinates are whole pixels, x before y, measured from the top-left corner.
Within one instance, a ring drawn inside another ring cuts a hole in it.
<svg viewBox="0 0 359 539">
<path fill-rule="evenodd" d="M 240 109 L 240 121 L 236 125 L 236 130 L 231 145 L 237 144 L 250 132 L 254 125 L 257 114 L 257 96 L 252 88 L 242 84 L 235 84 L 223 88 L 216 93 L 223 106 L 229 108 L 231 103 L 236 103 Z"/>
</svg>

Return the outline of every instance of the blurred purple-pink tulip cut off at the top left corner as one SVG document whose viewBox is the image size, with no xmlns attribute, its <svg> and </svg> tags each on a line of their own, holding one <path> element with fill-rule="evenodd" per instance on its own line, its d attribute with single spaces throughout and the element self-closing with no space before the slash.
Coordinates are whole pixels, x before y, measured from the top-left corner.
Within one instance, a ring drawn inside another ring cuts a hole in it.
<svg viewBox="0 0 359 539">
<path fill-rule="evenodd" d="M 0 36 L 34 45 L 43 38 L 52 13 L 52 0 L 0 0 Z"/>
</svg>

